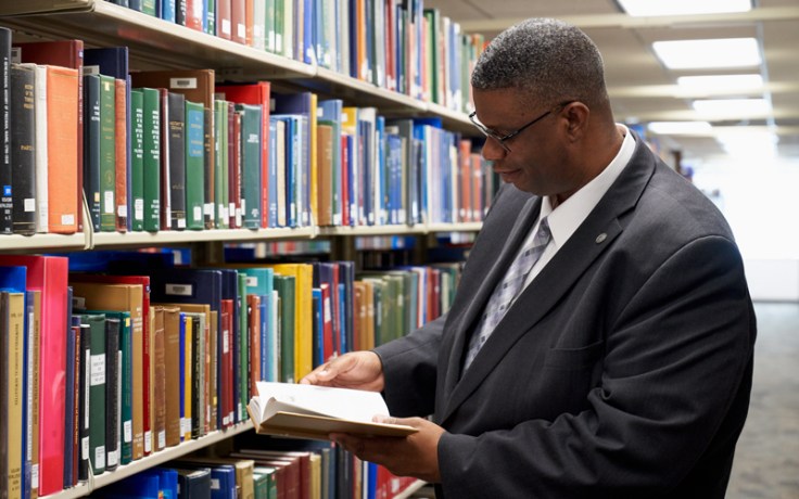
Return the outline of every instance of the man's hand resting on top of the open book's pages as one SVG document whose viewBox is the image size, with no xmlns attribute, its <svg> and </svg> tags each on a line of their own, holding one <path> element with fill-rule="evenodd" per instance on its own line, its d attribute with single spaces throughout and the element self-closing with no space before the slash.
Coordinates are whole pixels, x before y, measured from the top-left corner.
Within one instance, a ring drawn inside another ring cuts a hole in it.
<svg viewBox="0 0 799 499">
<path fill-rule="evenodd" d="M 373 351 L 352 351 L 314 369 L 300 383 L 382 392 L 383 364 Z"/>
</svg>

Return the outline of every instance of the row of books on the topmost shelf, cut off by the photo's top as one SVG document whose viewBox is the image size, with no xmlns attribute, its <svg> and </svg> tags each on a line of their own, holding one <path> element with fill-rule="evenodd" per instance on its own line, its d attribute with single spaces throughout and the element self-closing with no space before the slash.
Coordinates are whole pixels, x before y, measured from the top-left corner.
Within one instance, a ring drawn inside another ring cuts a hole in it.
<svg viewBox="0 0 799 499">
<path fill-rule="evenodd" d="M 471 106 L 468 78 L 484 47 L 423 0 L 114 3 L 460 112 Z"/>
</svg>

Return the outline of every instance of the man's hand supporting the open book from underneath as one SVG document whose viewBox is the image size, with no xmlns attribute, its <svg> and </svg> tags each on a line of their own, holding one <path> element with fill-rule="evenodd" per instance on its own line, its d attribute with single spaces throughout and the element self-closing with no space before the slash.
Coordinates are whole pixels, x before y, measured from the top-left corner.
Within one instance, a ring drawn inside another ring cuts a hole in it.
<svg viewBox="0 0 799 499">
<path fill-rule="evenodd" d="M 419 432 L 404 438 L 359 437 L 332 434 L 331 439 L 358 458 L 384 465 L 398 476 L 414 476 L 430 483 L 441 482 L 439 440 L 444 428 L 421 418 L 376 417 L 378 423 L 405 424 Z"/>
</svg>

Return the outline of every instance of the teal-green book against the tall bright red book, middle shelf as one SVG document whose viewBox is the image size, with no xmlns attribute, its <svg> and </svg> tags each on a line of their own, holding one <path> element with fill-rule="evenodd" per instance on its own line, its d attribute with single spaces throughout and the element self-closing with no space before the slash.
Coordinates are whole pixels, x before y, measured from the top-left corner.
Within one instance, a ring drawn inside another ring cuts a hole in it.
<svg viewBox="0 0 799 499">
<path fill-rule="evenodd" d="M 248 229 L 261 227 L 261 131 L 259 105 L 236 104 L 241 114 L 241 204 L 243 223 Z"/>
</svg>

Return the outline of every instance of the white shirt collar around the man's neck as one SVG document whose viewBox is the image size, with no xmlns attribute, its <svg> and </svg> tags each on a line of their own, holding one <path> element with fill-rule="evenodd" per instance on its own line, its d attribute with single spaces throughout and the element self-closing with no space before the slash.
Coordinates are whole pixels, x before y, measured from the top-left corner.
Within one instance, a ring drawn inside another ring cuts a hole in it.
<svg viewBox="0 0 799 499">
<path fill-rule="evenodd" d="M 578 192 L 569 196 L 563 203 L 553 209 L 549 196 L 543 199 L 541 218 L 547 217 L 551 231 L 550 244 L 556 248 L 563 244 L 578 230 L 591 212 L 599 204 L 599 200 L 608 192 L 635 152 L 635 139 L 624 125 L 617 124 L 619 131 L 624 133 L 619 152 L 610 164 L 591 182 L 583 185 Z"/>
</svg>

